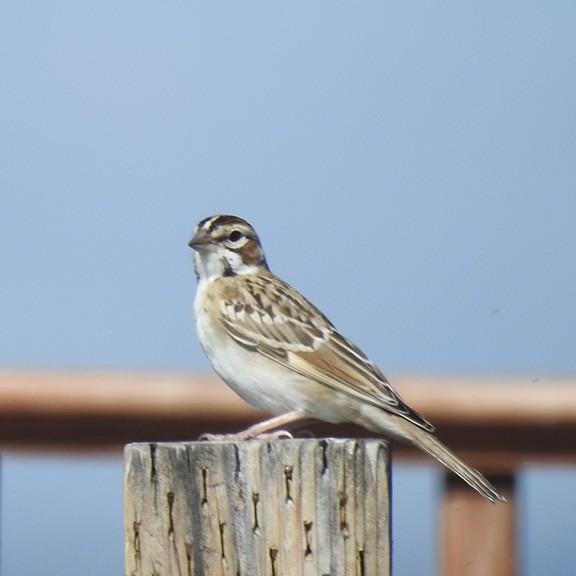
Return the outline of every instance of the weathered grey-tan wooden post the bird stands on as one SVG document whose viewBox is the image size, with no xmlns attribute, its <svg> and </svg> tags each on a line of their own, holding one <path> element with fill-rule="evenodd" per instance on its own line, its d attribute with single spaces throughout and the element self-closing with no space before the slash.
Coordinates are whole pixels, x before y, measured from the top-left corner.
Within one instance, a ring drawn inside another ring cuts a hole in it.
<svg viewBox="0 0 576 576">
<path fill-rule="evenodd" d="M 130 444 L 127 576 L 389 576 L 388 446 Z"/>
</svg>

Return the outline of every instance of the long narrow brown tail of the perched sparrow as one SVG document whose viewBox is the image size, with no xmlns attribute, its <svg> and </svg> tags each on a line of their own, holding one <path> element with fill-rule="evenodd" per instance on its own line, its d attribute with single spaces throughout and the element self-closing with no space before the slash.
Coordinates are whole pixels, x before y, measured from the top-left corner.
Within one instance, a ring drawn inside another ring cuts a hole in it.
<svg viewBox="0 0 576 576">
<path fill-rule="evenodd" d="M 410 432 L 410 437 L 407 439 L 412 444 L 433 458 L 436 458 L 438 462 L 444 464 L 446 468 L 460 476 L 464 482 L 467 482 L 474 490 L 484 496 L 484 498 L 490 500 L 490 502 L 506 502 L 506 498 L 499 494 L 496 488 L 494 488 L 478 470 L 466 464 L 466 462 L 456 456 L 454 452 L 442 444 L 440 440 L 432 436 L 432 434 L 416 426 L 413 426 Z"/>
</svg>

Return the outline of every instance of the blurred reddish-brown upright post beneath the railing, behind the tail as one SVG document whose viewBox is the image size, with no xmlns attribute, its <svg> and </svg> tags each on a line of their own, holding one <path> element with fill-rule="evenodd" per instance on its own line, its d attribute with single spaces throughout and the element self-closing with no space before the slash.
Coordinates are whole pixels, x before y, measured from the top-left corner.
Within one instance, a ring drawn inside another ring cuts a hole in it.
<svg viewBox="0 0 576 576">
<path fill-rule="evenodd" d="M 516 498 L 512 475 L 490 477 L 506 498 L 490 504 L 459 478 L 446 476 L 442 504 L 444 576 L 516 574 Z"/>
</svg>

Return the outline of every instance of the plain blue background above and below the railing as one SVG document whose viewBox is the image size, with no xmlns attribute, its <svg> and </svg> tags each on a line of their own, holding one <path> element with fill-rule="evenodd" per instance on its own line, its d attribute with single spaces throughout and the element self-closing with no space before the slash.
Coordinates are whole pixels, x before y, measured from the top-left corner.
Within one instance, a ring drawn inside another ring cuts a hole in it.
<svg viewBox="0 0 576 576">
<path fill-rule="evenodd" d="M 574 376 L 575 23 L 2 2 L 0 368 L 208 372 L 187 241 L 225 212 L 392 382 Z M 432 575 L 439 470 L 393 482 L 394 573 Z M 519 482 L 521 573 L 573 573 L 574 468 Z M 2 576 L 121 574 L 121 456 L 5 451 L 0 517 Z"/>
</svg>

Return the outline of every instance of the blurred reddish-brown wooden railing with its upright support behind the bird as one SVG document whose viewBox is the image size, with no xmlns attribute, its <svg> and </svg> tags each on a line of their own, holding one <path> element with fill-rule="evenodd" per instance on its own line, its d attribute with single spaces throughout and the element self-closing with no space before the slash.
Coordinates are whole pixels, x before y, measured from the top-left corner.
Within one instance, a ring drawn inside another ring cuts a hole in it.
<svg viewBox="0 0 576 576">
<path fill-rule="evenodd" d="M 514 574 L 514 477 L 535 462 L 576 465 L 576 379 L 399 377 L 394 385 L 436 425 L 438 436 L 508 499 L 504 505 L 488 504 L 458 479 L 446 477 L 442 573 Z M 129 442 L 237 431 L 263 416 L 210 376 L 0 374 L 3 448 L 118 451 Z M 309 430 L 316 436 L 368 435 L 355 426 L 320 423 Z M 394 457 L 425 456 L 394 445 Z"/>
</svg>

